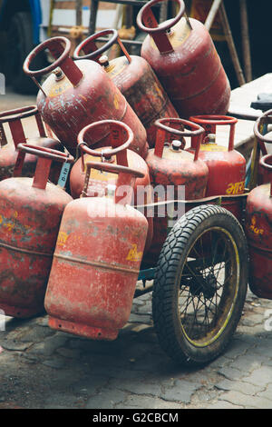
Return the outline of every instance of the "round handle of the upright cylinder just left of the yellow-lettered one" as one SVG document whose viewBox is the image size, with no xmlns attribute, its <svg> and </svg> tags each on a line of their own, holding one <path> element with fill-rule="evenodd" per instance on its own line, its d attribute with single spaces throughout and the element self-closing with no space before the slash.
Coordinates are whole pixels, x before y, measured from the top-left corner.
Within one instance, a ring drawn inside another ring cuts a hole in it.
<svg viewBox="0 0 272 427">
<path fill-rule="evenodd" d="M 183 126 L 189 127 L 191 130 L 184 130 L 179 131 L 178 129 L 174 129 L 170 126 L 165 125 L 165 123 L 169 124 L 182 124 Z M 200 144 L 202 141 L 201 135 L 204 134 L 204 129 L 199 124 L 195 124 L 193 122 L 190 122 L 189 120 L 179 119 L 179 118 L 164 118 L 156 120 L 155 125 L 159 128 L 159 131 L 157 131 L 156 135 L 156 143 L 155 143 L 155 150 L 154 154 L 158 155 L 159 157 L 162 157 L 163 153 L 163 145 L 164 145 L 164 134 L 165 132 L 168 132 L 170 134 L 176 134 L 178 136 L 184 137 L 197 137 L 198 138 L 198 144 L 195 150 L 195 157 L 194 161 L 196 162 L 199 158 L 199 149 Z M 161 132 L 162 131 L 162 132 Z"/>
</svg>

